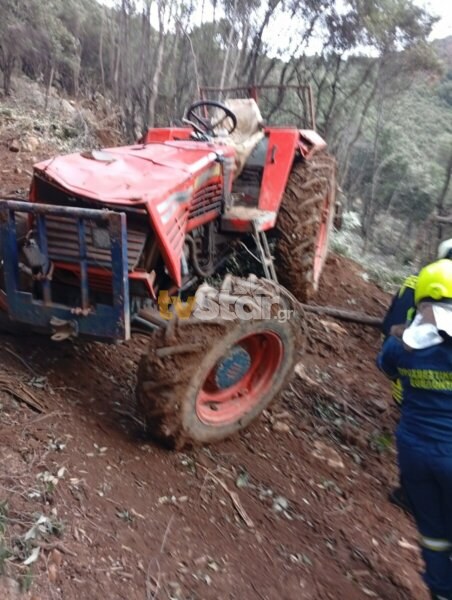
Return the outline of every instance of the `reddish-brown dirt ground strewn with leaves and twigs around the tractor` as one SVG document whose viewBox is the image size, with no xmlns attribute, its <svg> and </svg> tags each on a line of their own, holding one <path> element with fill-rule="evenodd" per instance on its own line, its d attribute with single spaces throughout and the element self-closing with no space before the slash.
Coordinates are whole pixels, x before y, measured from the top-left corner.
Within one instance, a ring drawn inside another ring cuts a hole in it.
<svg viewBox="0 0 452 600">
<path fill-rule="evenodd" d="M 2 194 L 26 189 L 30 159 L 11 176 L 0 147 Z M 388 297 L 333 256 L 316 301 L 379 316 Z M 397 410 L 379 334 L 309 318 L 280 402 L 188 452 L 143 436 L 145 340 L 1 335 L 0 599 L 427 600 L 415 530 L 387 501 Z"/>
</svg>

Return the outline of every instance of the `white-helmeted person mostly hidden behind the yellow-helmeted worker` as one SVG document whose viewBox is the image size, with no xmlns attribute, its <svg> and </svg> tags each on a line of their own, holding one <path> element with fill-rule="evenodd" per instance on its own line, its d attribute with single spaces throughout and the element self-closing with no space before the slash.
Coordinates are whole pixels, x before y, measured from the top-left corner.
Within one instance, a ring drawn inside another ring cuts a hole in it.
<svg viewBox="0 0 452 600">
<path fill-rule="evenodd" d="M 444 240 L 438 246 L 437 258 L 452 259 L 452 239 Z M 417 275 L 410 275 L 403 282 L 400 290 L 394 295 L 391 305 L 383 319 L 381 331 L 385 339 L 389 335 L 401 337 L 405 327 L 414 318 L 414 289 L 416 287 Z M 402 382 L 396 379 L 391 382 L 391 395 L 394 402 L 400 408 L 403 400 Z M 407 512 L 411 512 L 411 507 L 403 490 L 403 484 L 394 488 L 388 495 L 390 502 L 399 506 Z"/>
</svg>

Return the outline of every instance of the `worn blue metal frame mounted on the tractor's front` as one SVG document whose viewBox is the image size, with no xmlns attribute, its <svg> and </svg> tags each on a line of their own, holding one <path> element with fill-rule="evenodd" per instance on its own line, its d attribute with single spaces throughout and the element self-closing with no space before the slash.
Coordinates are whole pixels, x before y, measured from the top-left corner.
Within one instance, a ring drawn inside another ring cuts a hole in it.
<svg viewBox="0 0 452 600">
<path fill-rule="evenodd" d="M 20 286 L 19 247 L 16 213 L 33 215 L 40 252 L 51 264 L 47 248 L 46 216 L 59 215 L 74 219 L 78 228 L 81 306 L 68 306 L 52 300 L 51 277 L 36 281 L 37 293 L 23 291 Z M 112 302 L 90 305 L 86 221 L 103 222 L 110 237 Z M 52 333 L 52 320 L 71 324 L 74 335 L 105 341 L 130 338 L 129 279 L 127 262 L 127 219 L 125 213 L 52 206 L 34 202 L 0 199 L 0 235 L 8 313 L 13 321 Z"/>
</svg>

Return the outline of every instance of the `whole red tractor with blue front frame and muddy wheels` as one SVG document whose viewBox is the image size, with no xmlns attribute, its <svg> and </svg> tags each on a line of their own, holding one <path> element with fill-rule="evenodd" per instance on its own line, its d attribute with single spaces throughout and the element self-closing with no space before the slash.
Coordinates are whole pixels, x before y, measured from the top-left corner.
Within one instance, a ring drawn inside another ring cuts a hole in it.
<svg viewBox="0 0 452 600">
<path fill-rule="evenodd" d="M 148 335 L 149 433 L 223 439 L 292 374 L 294 296 L 317 289 L 334 216 L 325 147 L 313 130 L 264 125 L 252 98 L 202 100 L 183 127 L 39 163 L 27 201 L 0 201 L 0 307 L 55 340 Z"/>
</svg>

